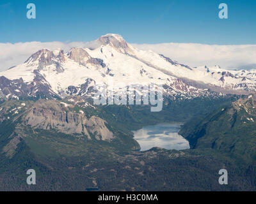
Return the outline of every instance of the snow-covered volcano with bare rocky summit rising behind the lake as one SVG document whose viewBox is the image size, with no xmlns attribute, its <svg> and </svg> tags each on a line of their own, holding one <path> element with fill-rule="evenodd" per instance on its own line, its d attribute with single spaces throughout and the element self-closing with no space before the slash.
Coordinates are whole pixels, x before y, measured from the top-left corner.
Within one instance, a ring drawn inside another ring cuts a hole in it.
<svg viewBox="0 0 256 204">
<path fill-rule="evenodd" d="M 256 71 L 227 71 L 219 67 L 189 68 L 164 55 L 132 47 L 122 36 L 107 34 L 95 48 L 39 50 L 24 64 L 0 72 L 0 97 L 86 96 L 95 84 L 125 87 L 131 84 L 162 84 L 165 94 L 196 97 L 216 86 L 255 91 Z M 200 86 L 196 85 L 200 82 Z M 202 85 L 203 84 L 203 85 Z"/>
</svg>

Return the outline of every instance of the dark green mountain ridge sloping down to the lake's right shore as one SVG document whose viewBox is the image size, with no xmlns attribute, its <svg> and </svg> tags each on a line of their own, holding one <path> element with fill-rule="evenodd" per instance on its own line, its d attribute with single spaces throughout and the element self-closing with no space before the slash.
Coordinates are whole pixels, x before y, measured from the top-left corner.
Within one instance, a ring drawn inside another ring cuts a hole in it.
<svg viewBox="0 0 256 204">
<path fill-rule="evenodd" d="M 240 163 L 255 163 L 255 108 L 256 95 L 244 96 L 188 121 L 179 134 L 189 140 L 191 149 L 213 149 Z"/>
</svg>

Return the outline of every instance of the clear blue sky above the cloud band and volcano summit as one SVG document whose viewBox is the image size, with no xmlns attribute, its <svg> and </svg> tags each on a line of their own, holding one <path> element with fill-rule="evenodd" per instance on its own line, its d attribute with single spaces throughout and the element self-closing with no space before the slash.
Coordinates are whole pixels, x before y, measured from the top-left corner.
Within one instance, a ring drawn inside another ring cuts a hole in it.
<svg viewBox="0 0 256 204">
<path fill-rule="evenodd" d="M 35 3 L 36 19 L 26 18 Z M 228 5 L 228 19 L 218 5 Z M 0 43 L 92 41 L 106 33 L 129 43 L 256 44 L 255 0 L 0 0 Z"/>
</svg>

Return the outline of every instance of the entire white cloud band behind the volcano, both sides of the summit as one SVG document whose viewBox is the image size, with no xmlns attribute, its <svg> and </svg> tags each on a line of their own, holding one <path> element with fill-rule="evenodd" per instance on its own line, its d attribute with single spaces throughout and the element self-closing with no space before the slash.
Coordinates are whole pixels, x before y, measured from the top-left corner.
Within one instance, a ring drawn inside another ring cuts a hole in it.
<svg viewBox="0 0 256 204">
<path fill-rule="evenodd" d="M 96 43 L 96 44 L 95 44 Z M 182 64 L 194 66 L 220 65 L 222 68 L 256 68 L 256 45 L 202 45 L 195 43 L 132 44 L 141 50 L 152 50 L 170 57 Z M 36 51 L 72 47 L 97 47 L 96 41 L 62 43 L 59 41 L 42 43 L 0 43 L 0 71 L 21 64 Z"/>
</svg>

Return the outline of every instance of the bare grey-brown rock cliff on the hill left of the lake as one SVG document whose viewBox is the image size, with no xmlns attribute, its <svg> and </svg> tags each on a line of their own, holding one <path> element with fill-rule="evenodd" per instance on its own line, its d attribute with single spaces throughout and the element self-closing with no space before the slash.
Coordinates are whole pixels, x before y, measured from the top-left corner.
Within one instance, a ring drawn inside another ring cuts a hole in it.
<svg viewBox="0 0 256 204">
<path fill-rule="evenodd" d="M 92 116 L 90 119 L 83 111 L 72 112 L 68 108 L 74 105 L 59 101 L 38 100 L 30 108 L 24 118 L 27 125 L 39 129 L 56 129 L 68 135 L 86 136 L 97 140 L 112 140 L 113 133 L 106 127 L 106 121 L 99 117 Z"/>
</svg>

